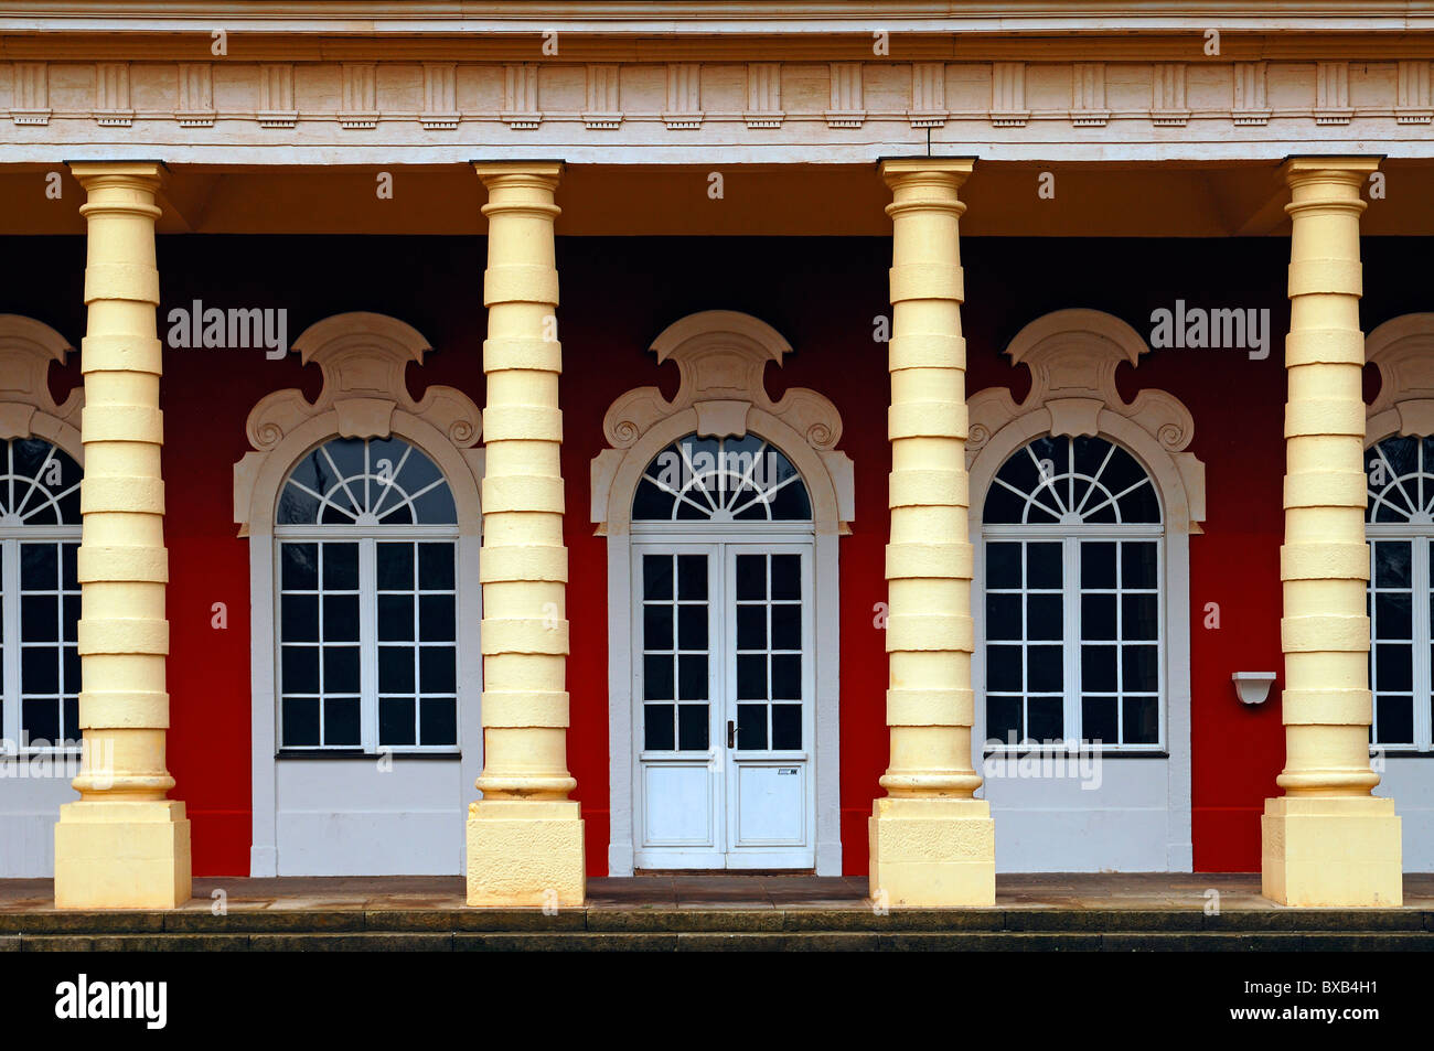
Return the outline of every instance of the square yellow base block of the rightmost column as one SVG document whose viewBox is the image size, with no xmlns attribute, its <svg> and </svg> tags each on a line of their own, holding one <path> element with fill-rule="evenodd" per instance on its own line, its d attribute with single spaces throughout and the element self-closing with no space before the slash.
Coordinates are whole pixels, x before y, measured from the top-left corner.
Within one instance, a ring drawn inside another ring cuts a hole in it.
<svg viewBox="0 0 1434 1051">
<path fill-rule="evenodd" d="M 1279 905 L 1326 909 L 1404 903 L 1392 799 L 1282 796 L 1260 817 L 1260 892 Z"/>
</svg>

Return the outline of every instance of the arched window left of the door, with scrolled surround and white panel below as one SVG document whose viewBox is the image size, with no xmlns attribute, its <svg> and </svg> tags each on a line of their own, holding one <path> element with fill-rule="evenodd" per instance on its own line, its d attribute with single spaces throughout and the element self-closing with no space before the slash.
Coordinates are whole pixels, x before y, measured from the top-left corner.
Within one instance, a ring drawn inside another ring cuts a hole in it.
<svg viewBox="0 0 1434 1051">
<path fill-rule="evenodd" d="M 440 384 L 413 397 L 430 350 L 397 318 L 337 314 L 294 351 L 323 371 L 318 396 L 265 396 L 234 467 L 250 873 L 456 875 L 483 763 L 478 406 Z"/>
</svg>

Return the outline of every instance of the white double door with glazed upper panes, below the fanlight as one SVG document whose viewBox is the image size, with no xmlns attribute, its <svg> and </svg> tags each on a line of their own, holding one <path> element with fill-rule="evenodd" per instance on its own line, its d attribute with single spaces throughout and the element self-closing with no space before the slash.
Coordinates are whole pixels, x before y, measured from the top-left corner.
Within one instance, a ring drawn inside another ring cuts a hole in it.
<svg viewBox="0 0 1434 1051">
<path fill-rule="evenodd" d="M 812 869 L 812 545 L 637 542 L 640 869 Z"/>
</svg>

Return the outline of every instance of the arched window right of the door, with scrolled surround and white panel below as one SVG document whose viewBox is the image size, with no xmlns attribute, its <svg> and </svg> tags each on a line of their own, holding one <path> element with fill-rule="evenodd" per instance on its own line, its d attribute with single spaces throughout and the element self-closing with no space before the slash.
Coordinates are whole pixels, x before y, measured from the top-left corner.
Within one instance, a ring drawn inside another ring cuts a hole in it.
<svg viewBox="0 0 1434 1051">
<path fill-rule="evenodd" d="M 1167 391 L 1120 394 L 1150 348 L 1110 314 L 1054 311 L 1007 353 L 1031 389 L 972 394 L 967 443 L 997 870 L 1189 872 L 1195 420 Z"/>
</svg>

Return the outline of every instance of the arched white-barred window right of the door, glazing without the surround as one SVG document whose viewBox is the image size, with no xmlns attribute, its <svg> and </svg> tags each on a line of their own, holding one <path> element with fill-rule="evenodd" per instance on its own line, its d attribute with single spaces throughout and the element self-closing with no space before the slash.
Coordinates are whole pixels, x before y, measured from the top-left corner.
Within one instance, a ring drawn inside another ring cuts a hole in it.
<svg viewBox="0 0 1434 1051">
<path fill-rule="evenodd" d="M 987 490 L 985 701 L 991 746 L 1160 748 L 1160 499 L 1104 437 L 1044 436 Z"/>
</svg>

